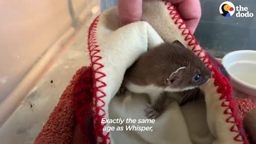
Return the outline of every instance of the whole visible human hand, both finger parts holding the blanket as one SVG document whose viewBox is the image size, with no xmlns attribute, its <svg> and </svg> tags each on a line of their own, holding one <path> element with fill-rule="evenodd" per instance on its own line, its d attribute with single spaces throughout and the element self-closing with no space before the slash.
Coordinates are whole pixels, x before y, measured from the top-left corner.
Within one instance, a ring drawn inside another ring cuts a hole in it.
<svg viewBox="0 0 256 144">
<path fill-rule="evenodd" d="M 183 20 L 194 34 L 201 18 L 201 5 L 199 0 L 169 0 L 177 7 Z M 142 17 L 142 0 L 118 0 L 118 15 L 121 25 L 140 21 Z"/>
</svg>

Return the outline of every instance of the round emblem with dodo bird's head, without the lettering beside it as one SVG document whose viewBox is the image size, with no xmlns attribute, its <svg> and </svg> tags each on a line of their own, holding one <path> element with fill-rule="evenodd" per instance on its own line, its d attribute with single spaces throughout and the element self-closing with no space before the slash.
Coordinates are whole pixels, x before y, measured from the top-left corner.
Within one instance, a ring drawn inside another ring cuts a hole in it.
<svg viewBox="0 0 256 144">
<path fill-rule="evenodd" d="M 223 2 L 220 5 L 220 14 L 223 17 L 231 17 L 235 13 L 235 5 L 231 2 Z"/>
</svg>

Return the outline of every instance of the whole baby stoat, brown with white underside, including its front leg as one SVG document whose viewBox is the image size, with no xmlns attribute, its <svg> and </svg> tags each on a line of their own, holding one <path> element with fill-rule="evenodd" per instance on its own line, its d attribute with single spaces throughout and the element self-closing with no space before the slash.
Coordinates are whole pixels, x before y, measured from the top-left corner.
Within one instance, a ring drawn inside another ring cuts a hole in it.
<svg viewBox="0 0 256 144">
<path fill-rule="evenodd" d="M 157 118 L 164 110 L 166 92 L 195 89 L 211 76 L 204 63 L 177 40 L 143 53 L 126 70 L 122 86 L 133 93 L 148 94 L 151 104 L 146 116 Z"/>
</svg>

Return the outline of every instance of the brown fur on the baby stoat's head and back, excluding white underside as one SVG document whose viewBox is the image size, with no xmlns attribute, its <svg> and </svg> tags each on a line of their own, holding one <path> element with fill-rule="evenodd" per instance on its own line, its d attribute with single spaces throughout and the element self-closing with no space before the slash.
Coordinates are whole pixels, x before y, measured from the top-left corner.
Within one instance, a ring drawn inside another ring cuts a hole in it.
<svg viewBox="0 0 256 144">
<path fill-rule="evenodd" d="M 177 73 L 178 81 L 172 85 L 166 85 L 164 83 L 166 77 L 183 66 L 186 68 L 182 70 L 182 73 Z M 197 72 L 202 75 L 202 82 L 198 85 L 192 81 Z M 182 91 L 188 86 L 202 85 L 210 77 L 211 71 L 205 67 L 204 63 L 179 41 L 174 41 L 163 43 L 142 54 L 134 65 L 127 69 L 124 85 L 129 82 L 142 86 L 155 84 L 163 87 L 171 86 Z"/>
</svg>

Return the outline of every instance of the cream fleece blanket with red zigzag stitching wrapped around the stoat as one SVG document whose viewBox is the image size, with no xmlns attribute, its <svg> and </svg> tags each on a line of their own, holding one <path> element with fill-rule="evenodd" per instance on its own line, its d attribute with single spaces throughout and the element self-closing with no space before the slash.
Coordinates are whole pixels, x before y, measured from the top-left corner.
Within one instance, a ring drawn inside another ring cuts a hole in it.
<svg viewBox="0 0 256 144">
<path fill-rule="evenodd" d="M 94 73 L 93 118 L 98 143 L 247 143 L 236 117 L 232 89 L 190 34 L 174 7 L 165 1 L 143 1 L 143 21 L 120 27 L 117 8 L 97 17 L 89 30 L 88 44 Z M 145 117 L 147 95 L 115 97 L 125 70 L 148 49 L 179 39 L 203 60 L 213 78 L 201 90 L 205 99 L 179 107 L 172 102 L 154 124 L 103 124 L 102 119 Z M 152 127 L 153 131 L 126 131 L 127 125 Z M 106 131 L 104 126 L 124 126 Z"/>
</svg>

